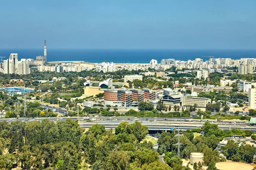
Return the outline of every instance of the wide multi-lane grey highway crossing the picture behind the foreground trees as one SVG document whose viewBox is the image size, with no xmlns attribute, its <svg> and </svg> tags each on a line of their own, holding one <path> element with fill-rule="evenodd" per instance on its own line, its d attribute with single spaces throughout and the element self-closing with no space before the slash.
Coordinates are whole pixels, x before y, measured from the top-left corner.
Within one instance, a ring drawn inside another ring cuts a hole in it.
<svg viewBox="0 0 256 170">
<path fill-rule="evenodd" d="M 70 117 L 72 120 L 77 120 L 77 117 Z M 58 117 L 58 118 L 11 118 L 11 119 L 0 119 L 0 121 L 6 122 L 13 122 L 13 121 L 22 121 L 22 122 L 29 122 L 29 121 L 42 121 L 43 119 L 48 119 L 49 121 L 64 121 L 68 119 L 68 117 Z M 90 120 L 86 121 L 85 119 Z M 137 117 L 79 117 L 79 125 L 84 128 L 89 128 L 94 124 L 104 125 L 106 129 L 114 129 L 117 127 L 121 122 L 128 121 L 130 123 L 134 123 L 136 120 L 140 121 L 143 125 L 148 126 L 148 130 L 154 131 L 162 131 L 167 130 L 170 131 L 172 127 L 176 130 L 192 130 L 195 128 L 201 128 L 203 126 L 202 122 L 198 122 L 198 120 L 182 122 L 181 119 L 170 119 L 170 118 L 137 118 Z M 146 120 L 147 119 L 147 120 Z M 165 120 L 167 119 L 167 120 Z M 199 120 L 200 121 L 200 120 Z M 215 122 L 213 122 L 215 123 Z M 224 124 L 220 125 L 219 128 L 221 130 L 231 130 L 231 129 L 241 129 L 241 130 L 250 130 L 252 132 L 256 132 L 256 126 L 246 126 L 244 124 Z"/>
</svg>

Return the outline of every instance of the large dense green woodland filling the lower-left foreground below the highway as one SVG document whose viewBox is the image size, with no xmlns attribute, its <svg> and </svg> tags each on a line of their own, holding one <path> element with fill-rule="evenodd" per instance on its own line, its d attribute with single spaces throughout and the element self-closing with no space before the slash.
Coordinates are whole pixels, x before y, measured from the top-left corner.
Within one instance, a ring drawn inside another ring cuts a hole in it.
<svg viewBox="0 0 256 170">
<path fill-rule="evenodd" d="M 87 132 L 76 121 L 0 122 L 0 169 L 169 170 L 151 142 L 141 142 L 148 127 L 123 122 L 112 130 L 93 125 Z"/>
</svg>

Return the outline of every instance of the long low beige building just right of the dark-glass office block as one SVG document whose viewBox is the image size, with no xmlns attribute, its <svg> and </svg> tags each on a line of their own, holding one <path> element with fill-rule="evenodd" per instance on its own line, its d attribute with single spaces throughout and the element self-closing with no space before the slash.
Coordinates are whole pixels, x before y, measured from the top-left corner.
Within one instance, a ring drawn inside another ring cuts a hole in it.
<svg viewBox="0 0 256 170">
<path fill-rule="evenodd" d="M 182 106 L 193 106 L 198 105 L 198 108 L 205 108 L 208 103 L 211 103 L 211 99 L 203 97 L 192 97 L 192 96 L 182 96 Z"/>
</svg>

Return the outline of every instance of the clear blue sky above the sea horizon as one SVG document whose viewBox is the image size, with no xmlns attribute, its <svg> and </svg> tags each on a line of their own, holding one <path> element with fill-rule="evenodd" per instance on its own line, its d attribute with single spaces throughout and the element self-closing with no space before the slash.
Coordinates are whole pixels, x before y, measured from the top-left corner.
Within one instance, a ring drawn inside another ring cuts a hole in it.
<svg viewBox="0 0 256 170">
<path fill-rule="evenodd" d="M 0 48 L 256 49 L 256 0 L 2 0 Z"/>
</svg>

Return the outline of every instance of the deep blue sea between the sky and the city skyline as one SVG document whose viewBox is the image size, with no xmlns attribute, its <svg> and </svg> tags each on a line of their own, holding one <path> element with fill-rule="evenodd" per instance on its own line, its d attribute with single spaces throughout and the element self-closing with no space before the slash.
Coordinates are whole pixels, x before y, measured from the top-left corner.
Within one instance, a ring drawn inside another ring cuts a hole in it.
<svg viewBox="0 0 256 170">
<path fill-rule="evenodd" d="M 35 59 L 43 56 L 44 49 L 0 49 L 0 57 L 8 59 L 11 53 L 17 53 L 18 59 Z M 47 48 L 47 61 L 84 61 L 84 62 L 114 62 L 114 63 L 149 63 L 156 59 L 194 60 L 201 58 L 256 58 L 256 50 L 191 50 L 191 49 L 51 49 Z"/>
</svg>

